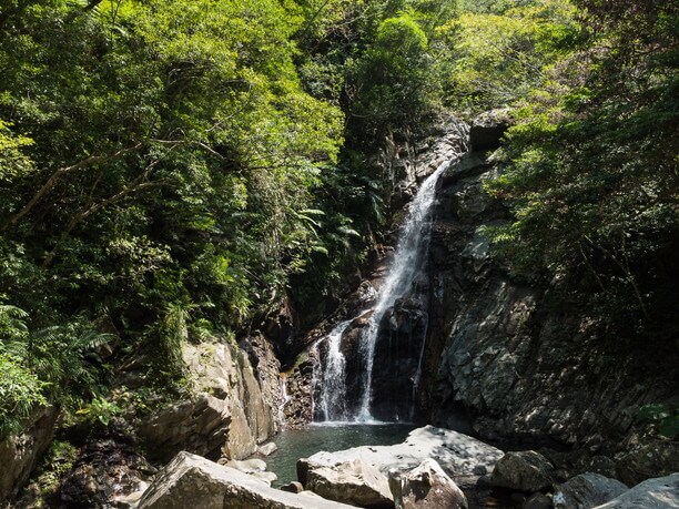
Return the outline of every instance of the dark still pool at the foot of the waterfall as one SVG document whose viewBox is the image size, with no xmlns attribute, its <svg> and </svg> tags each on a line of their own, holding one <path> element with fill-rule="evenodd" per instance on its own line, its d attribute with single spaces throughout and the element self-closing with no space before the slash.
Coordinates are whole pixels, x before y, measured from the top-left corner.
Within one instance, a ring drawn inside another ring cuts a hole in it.
<svg viewBox="0 0 679 509">
<path fill-rule="evenodd" d="M 392 446 L 404 441 L 415 429 L 405 424 L 314 423 L 302 429 L 281 431 L 274 441 L 278 450 L 264 458 L 268 470 L 278 476 L 273 487 L 297 480 L 297 459 L 315 452 L 348 449 L 358 446 Z"/>
</svg>

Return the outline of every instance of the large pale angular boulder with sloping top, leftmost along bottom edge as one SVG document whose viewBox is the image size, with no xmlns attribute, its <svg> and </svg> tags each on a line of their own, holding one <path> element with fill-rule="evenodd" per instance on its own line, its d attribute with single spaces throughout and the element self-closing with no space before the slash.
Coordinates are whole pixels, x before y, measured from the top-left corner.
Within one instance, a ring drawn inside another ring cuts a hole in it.
<svg viewBox="0 0 679 509">
<path fill-rule="evenodd" d="M 139 509 L 247 508 L 351 509 L 349 506 L 305 493 L 273 489 L 233 468 L 190 452 L 178 454 L 144 492 Z"/>
</svg>

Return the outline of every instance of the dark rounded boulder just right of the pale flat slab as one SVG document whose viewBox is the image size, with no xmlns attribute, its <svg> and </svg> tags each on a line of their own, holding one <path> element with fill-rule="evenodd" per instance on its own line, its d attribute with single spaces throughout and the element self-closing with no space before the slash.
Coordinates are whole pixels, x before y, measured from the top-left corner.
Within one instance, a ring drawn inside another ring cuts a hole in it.
<svg viewBox="0 0 679 509">
<path fill-rule="evenodd" d="M 507 452 L 495 465 L 490 483 L 497 488 L 540 491 L 551 486 L 553 470 L 549 460 L 534 450 Z"/>
</svg>

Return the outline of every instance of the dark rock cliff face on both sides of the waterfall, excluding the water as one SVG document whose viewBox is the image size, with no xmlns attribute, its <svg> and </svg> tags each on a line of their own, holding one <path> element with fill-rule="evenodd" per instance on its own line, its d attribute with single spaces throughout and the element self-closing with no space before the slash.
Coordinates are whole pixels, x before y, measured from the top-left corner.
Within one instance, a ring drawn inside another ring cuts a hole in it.
<svg viewBox="0 0 679 509">
<path fill-rule="evenodd" d="M 472 126 L 472 145 L 498 146 L 506 121 L 503 114 L 486 115 Z M 394 207 L 407 203 L 440 161 L 465 147 L 466 131 L 452 123 L 438 142 L 388 145 L 382 164 L 393 173 Z M 372 414 L 491 440 L 589 447 L 607 455 L 629 448 L 634 438 L 624 446 L 620 440 L 631 437 L 639 407 L 676 398 L 676 347 L 672 342 L 622 347 L 600 317 L 554 298 L 558 281 L 511 276 L 484 235 L 485 227 L 510 221 L 503 204 L 483 191 L 484 181 L 501 171 L 487 155 L 472 151 L 440 179 L 426 275 L 379 326 Z M 371 308 L 389 256 L 385 250 L 371 278 L 330 320 L 355 317 L 341 347 L 349 408 L 362 394 L 362 329 L 369 314 L 361 309 Z M 323 345 L 316 355 L 326 355 Z M 296 385 L 304 386 L 304 396 L 291 391 L 291 408 L 313 391 L 308 381 Z M 302 414 L 307 417 L 308 408 Z"/>
</svg>

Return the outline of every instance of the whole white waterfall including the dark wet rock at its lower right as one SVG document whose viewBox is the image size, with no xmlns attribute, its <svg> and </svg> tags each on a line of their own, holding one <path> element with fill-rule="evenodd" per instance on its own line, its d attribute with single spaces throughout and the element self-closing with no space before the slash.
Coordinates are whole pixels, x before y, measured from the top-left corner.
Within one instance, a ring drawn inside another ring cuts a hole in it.
<svg viewBox="0 0 679 509">
<path fill-rule="evenodd" d="M 371 309 L 314 345 L 315 421 L 413 421 L 428 327 L 426 263 L 440 164 L 419 187 Z M 377 359 L 377 362 L 376 362 Z"/>
</svg>

